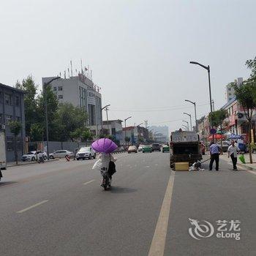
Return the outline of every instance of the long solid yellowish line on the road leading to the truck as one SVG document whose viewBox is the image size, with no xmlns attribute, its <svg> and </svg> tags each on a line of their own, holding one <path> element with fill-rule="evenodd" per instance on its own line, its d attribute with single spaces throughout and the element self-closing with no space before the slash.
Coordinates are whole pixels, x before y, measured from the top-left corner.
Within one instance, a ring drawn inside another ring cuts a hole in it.
<svg viewBox="0 0 256 256">
<path fill-rule="evenodd" d="M 170 203 L 173 194 L 174 175 L 175 174 L 170 175 L 167 184 L 165 197 L 164 200 L 162 201 L 162 208 L 157 220 L 157 227 L 156 230 L 154 231 L 154 236 L 151 242 L 148 256 L 162 256 L 165 253 L 165 240 L 170 215 Z"/>
</svg>

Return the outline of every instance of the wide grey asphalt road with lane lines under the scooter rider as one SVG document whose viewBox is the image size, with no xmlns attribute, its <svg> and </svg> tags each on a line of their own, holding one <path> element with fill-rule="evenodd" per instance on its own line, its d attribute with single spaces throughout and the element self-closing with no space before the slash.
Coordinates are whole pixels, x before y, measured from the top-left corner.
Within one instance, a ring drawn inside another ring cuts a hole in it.
<svg viewBox="0 0 256 256">
<path fill-rule="evenodd" d="M 0 255 L 256 255 L 256 173 L 223 161 L 219 172 L 174 173 L 167 153 L 115 157 L 109 191 L 95 160 L 4 171 Z M 217 238 L 218 220 L 239 220 L 224 234 L 241 239 Z"/>
</svg>

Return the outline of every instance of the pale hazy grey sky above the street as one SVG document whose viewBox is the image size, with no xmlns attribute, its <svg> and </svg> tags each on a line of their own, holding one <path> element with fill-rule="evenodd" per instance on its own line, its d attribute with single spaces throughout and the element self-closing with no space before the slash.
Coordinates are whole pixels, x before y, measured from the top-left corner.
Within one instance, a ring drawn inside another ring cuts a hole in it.
<svg viewBox="0 0 256 256">
<path fill-rule="evenodd" d="M 63 74 L 89 64 L 109 118 L 148 120 L 170 130 L 208 113 L 211 66 L 215 108 L 225 85 L 247 78 L 256 56 L 256 1 L 1 0 L 0 83 Z M 104 114 L 105 117 L 105 114 Z"/>
</svg>

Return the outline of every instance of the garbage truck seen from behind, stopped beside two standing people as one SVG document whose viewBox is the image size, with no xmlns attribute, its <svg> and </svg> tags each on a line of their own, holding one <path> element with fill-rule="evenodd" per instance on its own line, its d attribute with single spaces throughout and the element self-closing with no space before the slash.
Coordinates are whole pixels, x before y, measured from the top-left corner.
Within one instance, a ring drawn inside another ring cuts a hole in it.
<svg viewBox="0 0 256 256">
<path fill-rule="evenodd" d="M 170 167 L 176 162 L 194 162 L 203 159 L 200 139 L 197 132 L 182 131 L 181 129 L 171 132 L 170 135 Z"/>
</svg>

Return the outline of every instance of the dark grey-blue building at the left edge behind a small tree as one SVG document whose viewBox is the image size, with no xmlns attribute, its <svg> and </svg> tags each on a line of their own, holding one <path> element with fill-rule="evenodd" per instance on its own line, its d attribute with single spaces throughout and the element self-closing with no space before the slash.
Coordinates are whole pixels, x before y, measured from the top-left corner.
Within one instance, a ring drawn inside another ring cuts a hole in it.
<svg viewBox="0 0 256 256">
<path fill-rule="evenodd" d="M 18 159 L 21 159 L 25 143 L 24 92 L 0 83 L 0 129 L 5 130 L 7 162 L 15 161 L 14 136 L 8 126 L 10 121 L 20 121 L 22 124 L 16 144 Z"/>
</svg>

